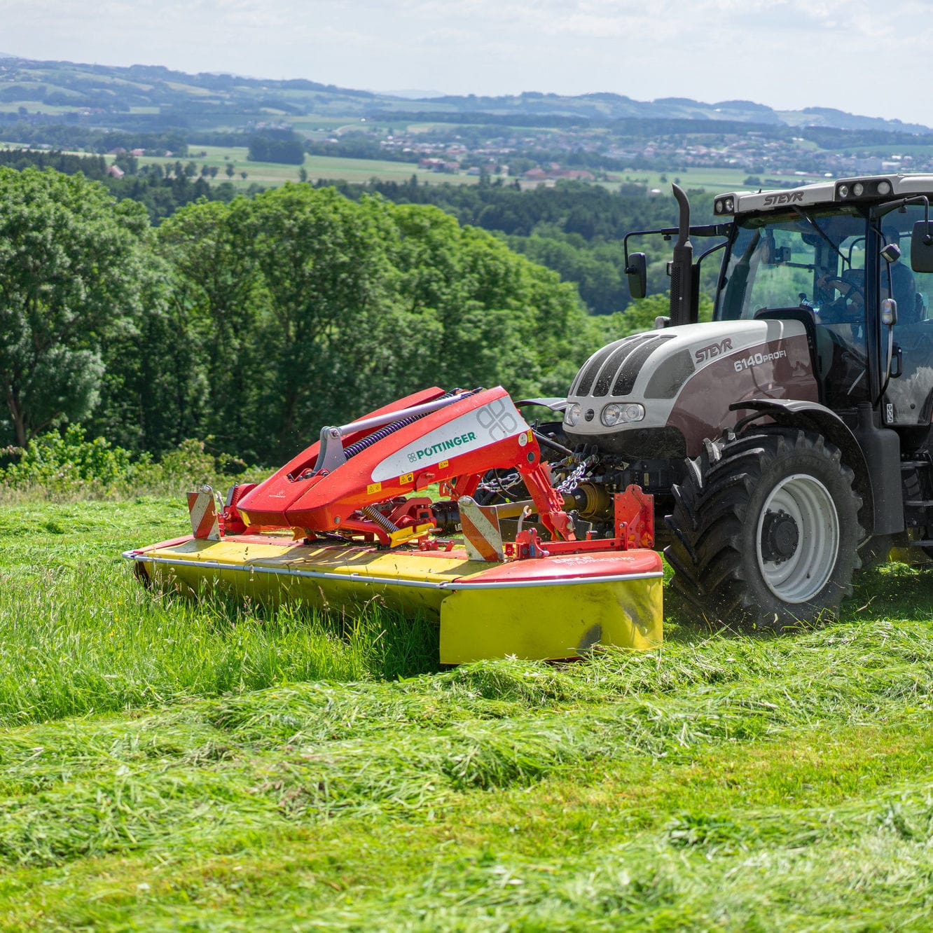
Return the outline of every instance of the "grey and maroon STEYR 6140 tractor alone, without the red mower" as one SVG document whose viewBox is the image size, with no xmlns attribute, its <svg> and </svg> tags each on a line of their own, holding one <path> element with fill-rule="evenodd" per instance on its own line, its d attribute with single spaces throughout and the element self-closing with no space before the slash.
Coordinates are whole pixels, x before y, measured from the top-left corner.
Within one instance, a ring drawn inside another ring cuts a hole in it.
<svg viewBox="0 0 933 933">
<path fill-rule="evenodd" d="M 555 486 L 597 536 L 614 493 L 652 494 L 675 591 L 709 620 L 831 618 L 893 546 L 933 553 L 933 175 L 723 194 L 702 226 L 674 195 L 676 228 L 624 240 L 634 298 L 630 241 L 674 241 L 669 315 L 538 400 L 563 410 L 541 431 Z"/>
</svg>

